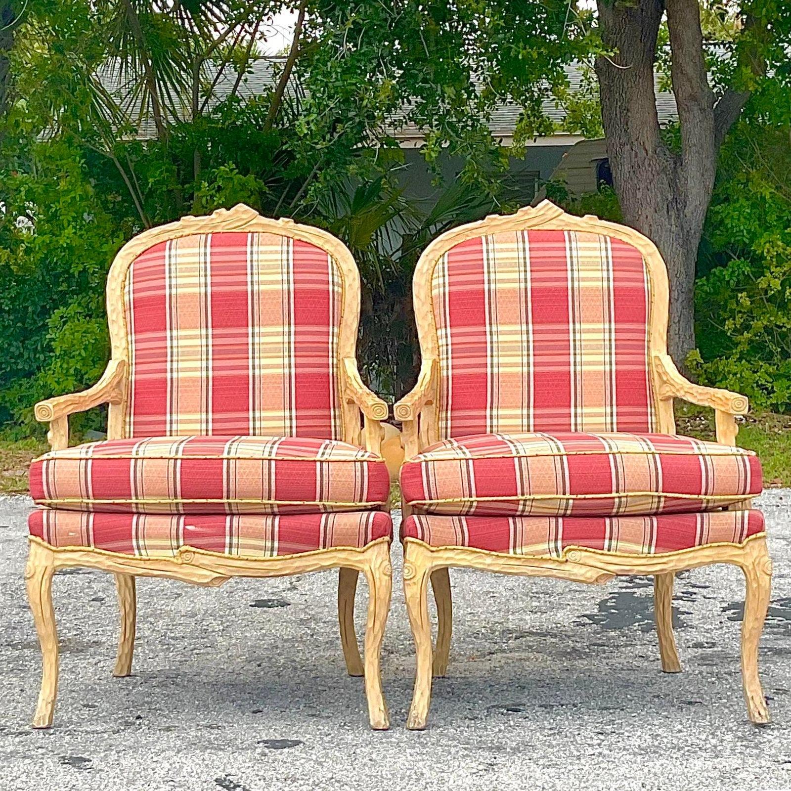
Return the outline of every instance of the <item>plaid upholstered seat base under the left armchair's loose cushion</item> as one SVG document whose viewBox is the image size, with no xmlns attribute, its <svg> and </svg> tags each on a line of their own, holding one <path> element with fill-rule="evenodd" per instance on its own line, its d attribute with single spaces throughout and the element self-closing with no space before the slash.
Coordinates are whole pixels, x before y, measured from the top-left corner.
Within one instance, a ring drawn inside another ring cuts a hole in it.
<svg viewBox="0 0 791 791">
<path fill-rule="evenodd" d="M 331 547 L 365 547 L 392 536 L 390 514 L 167 515 L 36 509 L 30 535 L 52 547 L 94 547 L 141 558 L 170 558 L 180 547 L 269 558 Z"/>
</svg>

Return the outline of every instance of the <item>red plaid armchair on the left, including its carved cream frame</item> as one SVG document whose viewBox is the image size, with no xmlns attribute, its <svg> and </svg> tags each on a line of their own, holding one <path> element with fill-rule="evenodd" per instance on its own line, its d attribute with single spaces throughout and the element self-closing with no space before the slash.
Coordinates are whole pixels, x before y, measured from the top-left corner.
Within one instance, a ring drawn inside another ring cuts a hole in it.
<svg viewBox="0 0 791 791">
<path fill-rule="evenodd" d="M 59 648 L 55 570 L 115 574 L 115 676 L 131 672 L 135 578 L 221 585 L 339 569 L 350 675 L 388 727 L 379 656 L 392 587 L 388 407 L 355 347 L 359 276 L 330 234 L 247 206 L 135 237 L 108 274 L 112 358 L 85 392 L 36 405 L 51 452 L 31 467 L 25 577 L 44 657 L 33 725 L 51 725 Z M 69 447 L 70 414 L 107 403 L 108 438 Z M 362 418 L 362 419 L 361 419 Z M 364 425 L 363 425 L 364 424 Z M 365 658 L 354 633 L 369 584 Z"/>
</svg>

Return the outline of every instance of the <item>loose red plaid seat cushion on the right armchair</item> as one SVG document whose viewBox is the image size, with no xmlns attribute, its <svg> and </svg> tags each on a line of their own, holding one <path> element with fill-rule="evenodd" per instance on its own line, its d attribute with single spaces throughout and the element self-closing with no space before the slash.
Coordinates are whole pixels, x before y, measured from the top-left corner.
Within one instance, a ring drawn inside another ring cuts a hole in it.
<svg viewBox="0 0 791 791">
<path fill-rule="evenodd" d="M 439 441 L 401 468 L 404 501 L 422 513 L 691 513 L 761 489 L 755 453 L 667 434 L 479 434 Z"/>
</svg>

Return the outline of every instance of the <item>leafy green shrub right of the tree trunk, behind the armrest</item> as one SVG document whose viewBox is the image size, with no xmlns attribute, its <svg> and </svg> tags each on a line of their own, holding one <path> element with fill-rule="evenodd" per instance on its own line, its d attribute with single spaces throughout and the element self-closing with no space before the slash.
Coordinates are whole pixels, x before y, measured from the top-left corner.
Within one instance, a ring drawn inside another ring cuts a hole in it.
<svg viewBox="0 0 791 791">
<path fill-rule="evenodd" d="M 791 145 L 756 120 L 721 156 L 696 292 L 691 368 L 756 407 L 791 408 Z"/>
</svg>

